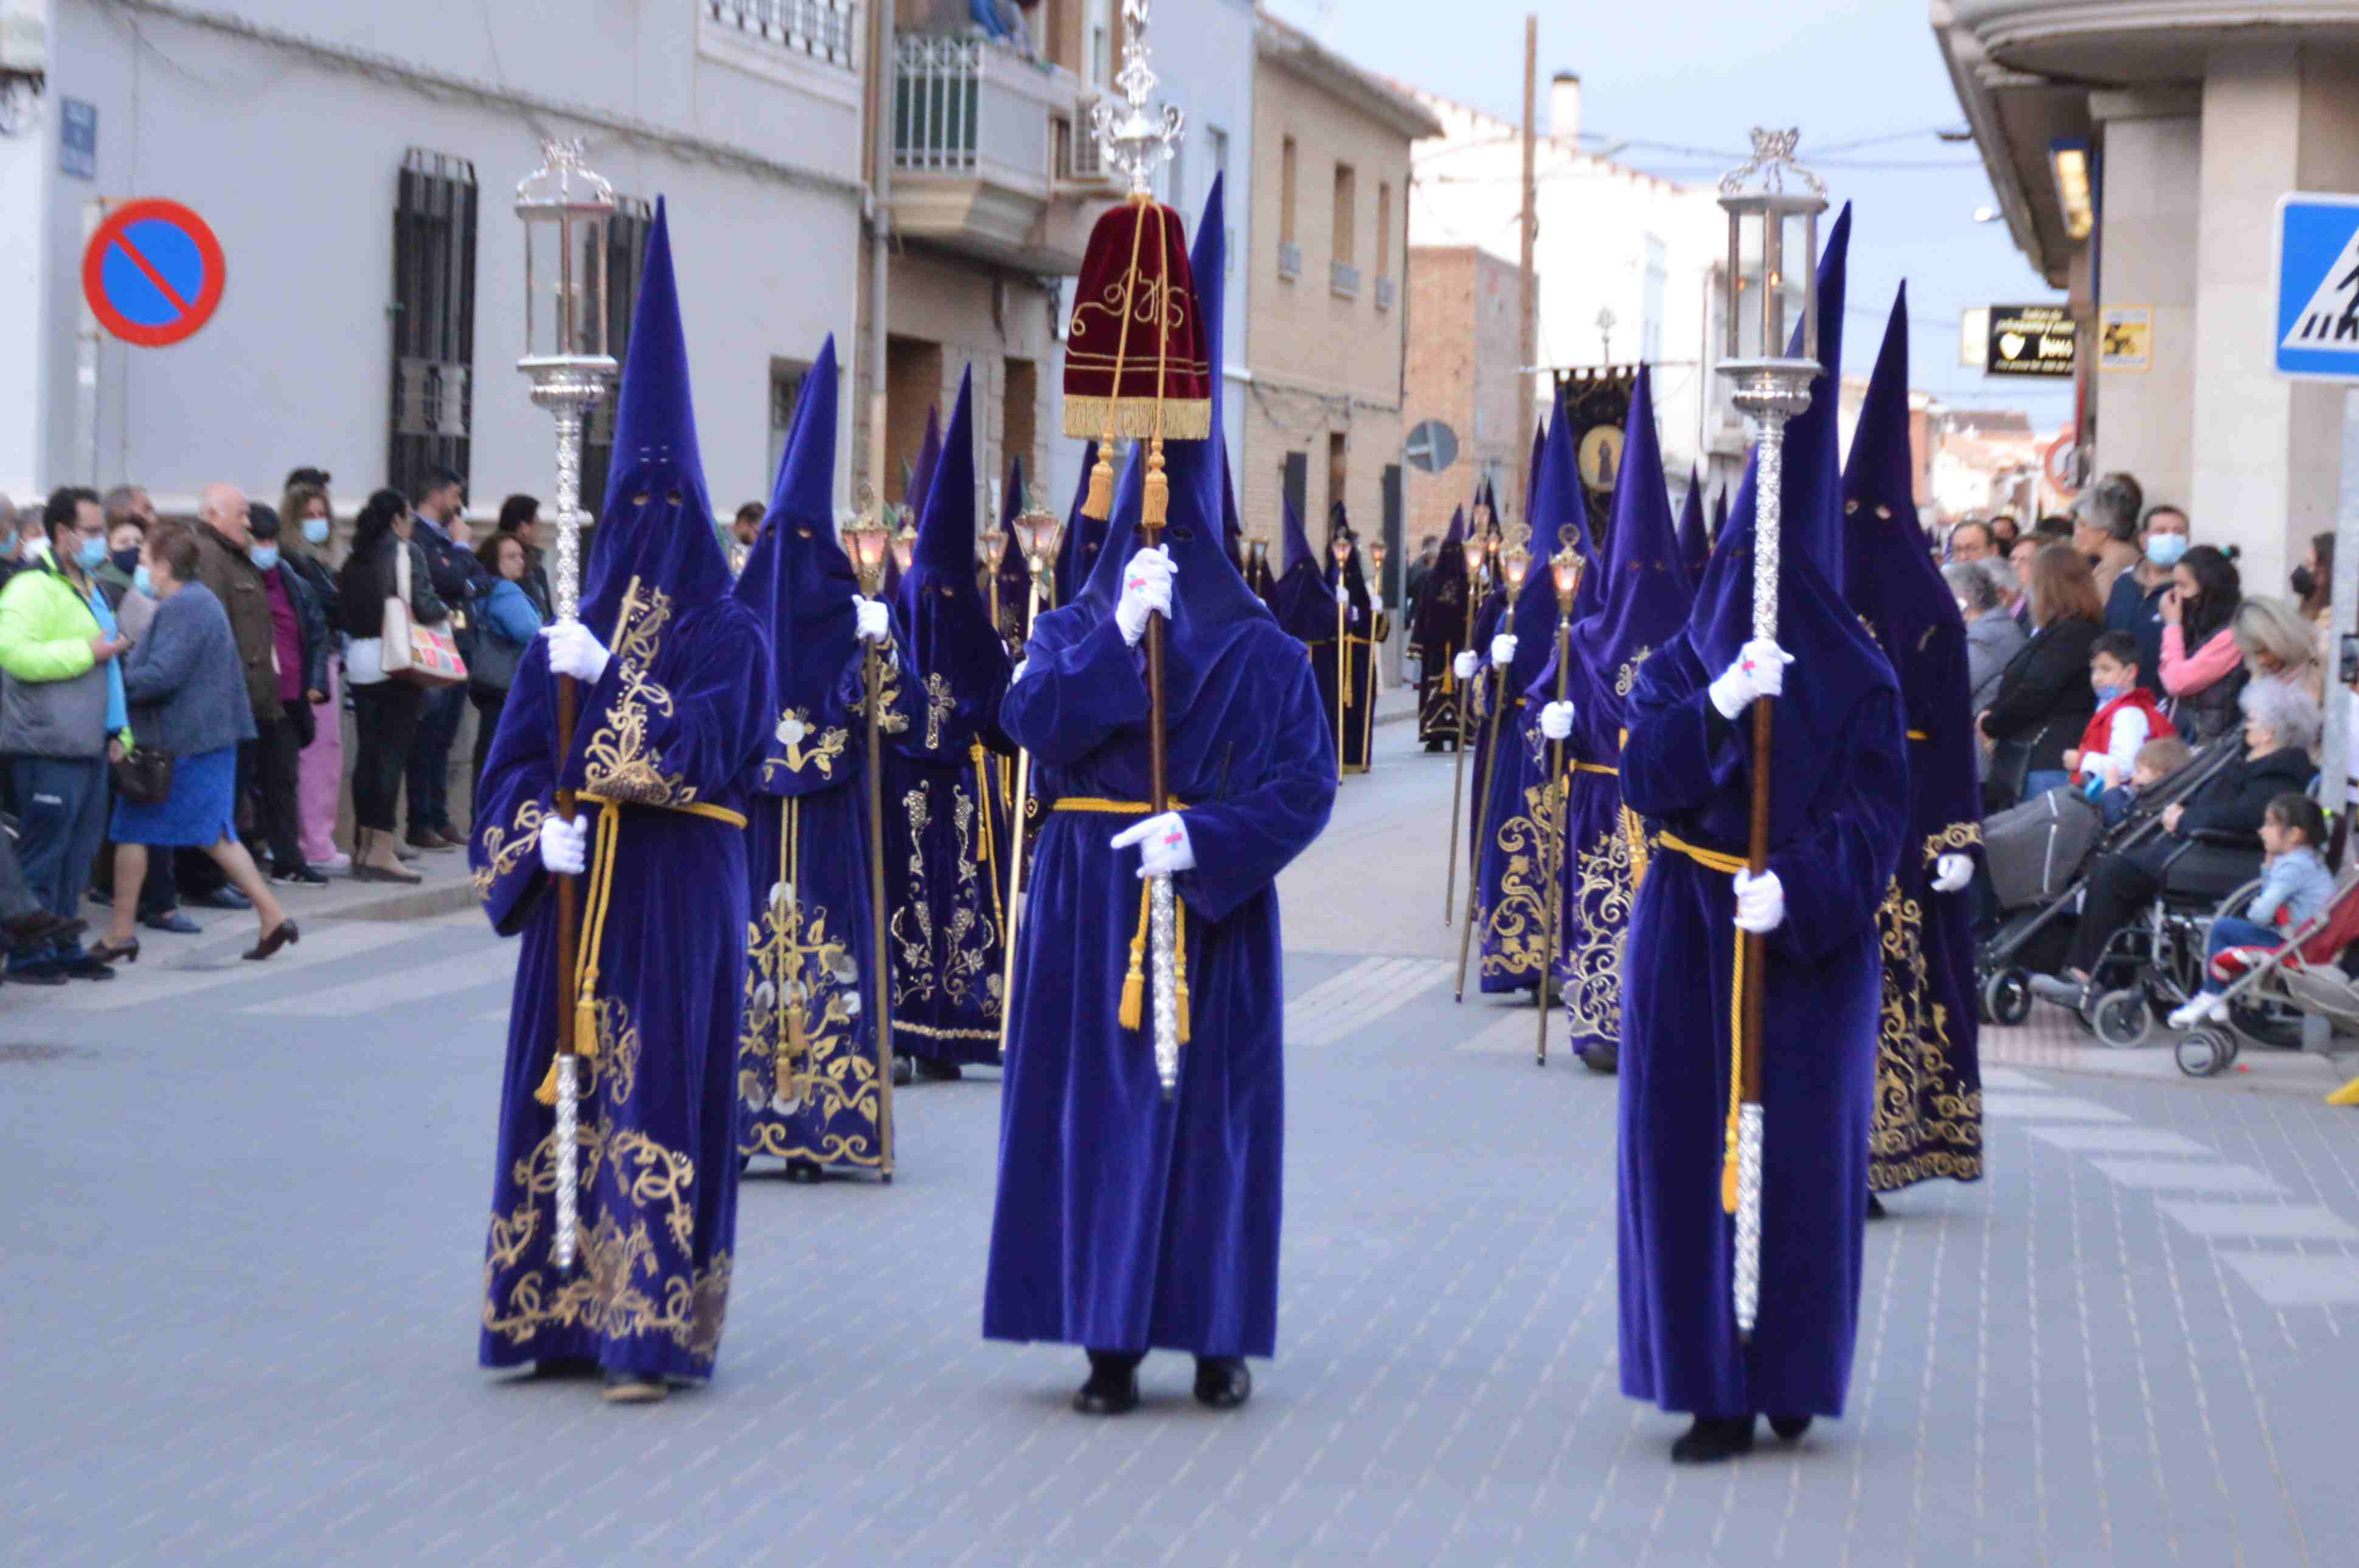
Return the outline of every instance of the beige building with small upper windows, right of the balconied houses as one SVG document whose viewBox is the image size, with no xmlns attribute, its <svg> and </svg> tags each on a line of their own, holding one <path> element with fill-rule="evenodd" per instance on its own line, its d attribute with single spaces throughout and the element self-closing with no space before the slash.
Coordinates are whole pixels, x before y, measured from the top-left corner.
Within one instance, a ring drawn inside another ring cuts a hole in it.
<svg viewBox="0 0 2359 1568">
<path fill-rule="evenodd" d="M 1439 123 L 1397 87 L 1257 19 L 1246 533 L 1276 540 L 1295 498 L 1312 545 L 1335 500 L 1401 575 L 1401 377 L 1408 318 L 1408 146 Z"/>
</svg>

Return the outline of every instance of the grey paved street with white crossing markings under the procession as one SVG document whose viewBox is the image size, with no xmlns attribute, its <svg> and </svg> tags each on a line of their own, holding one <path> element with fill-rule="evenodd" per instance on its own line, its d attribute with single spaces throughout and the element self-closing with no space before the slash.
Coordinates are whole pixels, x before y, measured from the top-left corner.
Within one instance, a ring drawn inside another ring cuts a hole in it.
<svg viewBox="0 0 2359 1568">
<path fill-rule="evenodd" d="M 0 1563 L 2352 1561 L 2359 1120 L 2314 1061 L 1993 1037 L 1993 1174 L 1871 1231 L 1849 1417 L 1675 1471 L 1616 1382 L 1614 1082 L 1451 1004 L 1448 797 L 1385 726 L 1286 879 L 1281 1346 L 1229 1417 L 1161 1356 L 1083 1422 L 1076 1351 L 979 1339 L 988 1078 L 901 1094 L 892 1186 L 753 1179 L 717 1382 L 613 1410 L 474 1368 L 474 915 L 0 990 Z"/>
</svg>

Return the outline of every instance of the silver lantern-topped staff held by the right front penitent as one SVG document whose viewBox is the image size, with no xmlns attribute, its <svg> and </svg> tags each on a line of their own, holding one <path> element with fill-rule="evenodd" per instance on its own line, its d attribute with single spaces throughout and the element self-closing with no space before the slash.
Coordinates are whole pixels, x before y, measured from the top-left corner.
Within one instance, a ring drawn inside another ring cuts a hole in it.
<svg viewBox="0 0 2359 1568">
<path fill-rule="evenodd" d="M 1776 641 L 1779 526 L 1783 521 L 1786 422 L 1809 408 L 1809 384 L 1819 361 L 1809 358 L 1819 330 L 1819 215 L 1826 186 L 1793 158 L 1800 130 L 1753 132 L 1753 158 L 1720 182 L 1720 205 L 1729 215 L 1727 349 L 1720 375 L 1734 382 L 1736 406 L 1750 415 L 1760 469 L 1753 514 L 1753 639 Z M 1800 191 L 1788 191 L 1793 179 Z M 1760 257 L 1760 278 L 1746 278 L 1746 255 Z M 1800 278 L 1788 276 L 1800 269 Z M 1743 309 L 1743 288 L 1753 309 Z M 1795 297 L 1800 356 L 1779 356 L 1786 344 L 1786 304 Z M 1774 703 L 1753 703 L 1753 842 L 1746 863 L 1757 877 L 1769 870 L 1769 717 Z M 1762 1004 L 1769 990 L 1767 938 L 1746 934 L 1739 946 L 1736 986 L 1743 1002 L 1729 1045 L 1729 1125 L 1720 1167 L 1720 1207 L 1736 1217 L 1736 1332 L 1753 1337 L 1762 1297 Z"/>
</svg>

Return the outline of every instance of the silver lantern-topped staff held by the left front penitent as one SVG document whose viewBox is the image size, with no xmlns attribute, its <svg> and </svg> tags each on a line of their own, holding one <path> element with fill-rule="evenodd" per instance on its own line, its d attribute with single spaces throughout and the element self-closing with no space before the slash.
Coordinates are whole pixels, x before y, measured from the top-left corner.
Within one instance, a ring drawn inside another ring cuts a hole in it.
<svg viewBox="0 0 2359 1568">
<path fill-rule="evenodd" d="M 613 186 L 583 165 L 578 139 L 540 141 L 540 167 L 517 182 L 524 219 L 524 358 L 533 403 L 557 415 L 557 556 L 550 597 L 557 625 L 580 611 L 583 420 L 613 382 L 606 354 L 606 222 Z M 557 679 L 557 766 L 573 755 L 580 691 Z M 557 816 L 573 821 L 573 792 L 557 792 Z M 580 1236 L 580 1028 L 573 964 L 580 953 L 580 887 L 557 877 L 557 1233 L 550 1259 L 573 1266 Z M 592 1019 L 587 1023 L 597 1028 Z M 592 1040 L 597 1045 L 597 1040 Z"/>
</svg>

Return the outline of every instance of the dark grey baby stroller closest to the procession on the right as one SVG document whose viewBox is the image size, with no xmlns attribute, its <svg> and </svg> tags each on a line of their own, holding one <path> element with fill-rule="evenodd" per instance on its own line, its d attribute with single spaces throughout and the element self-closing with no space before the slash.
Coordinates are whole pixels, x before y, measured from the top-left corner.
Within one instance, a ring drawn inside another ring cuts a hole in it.
<svg viewBox="0 0 2359 1568">
<path fill-rule="evenodd" d="M 2100 856 L 2158 837 L 2163 811 L 2217 778 L 2241 750 L 2239 736 L 2213 740 L 2147 790 L 2114 828 L 2097 828 L 2095 809 L 2055 790 L 1986 823 L 1984 849 L 2000 920 L 1974 950 L 1984 1023 L 2012 1026 L 2031 1016 L 2031 976 L 2050 974 L 2064 960 L 2069 915 L 2081 908 L 2088 868 Z M 2201 957 L 2201 946 L 2196 953 Z"/>
</svg>

